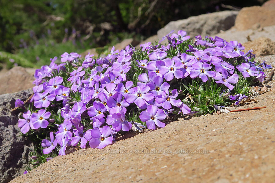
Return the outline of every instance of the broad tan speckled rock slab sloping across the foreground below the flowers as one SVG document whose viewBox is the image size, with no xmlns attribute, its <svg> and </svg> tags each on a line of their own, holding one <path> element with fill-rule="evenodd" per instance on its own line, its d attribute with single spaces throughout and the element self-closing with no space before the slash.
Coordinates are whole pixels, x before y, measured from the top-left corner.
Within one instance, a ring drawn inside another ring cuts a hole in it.
<svg viewBox="0 0 275 183">
<path fill-rule="evenodd" d="M 274 79 L 258 102 L 230 108 L 265 109 L 181 118 L 157 130 L 128 132 L 104 149 L 57 156 L 11 182 L 273 182 L 273 86 Z"/>
</svg>

